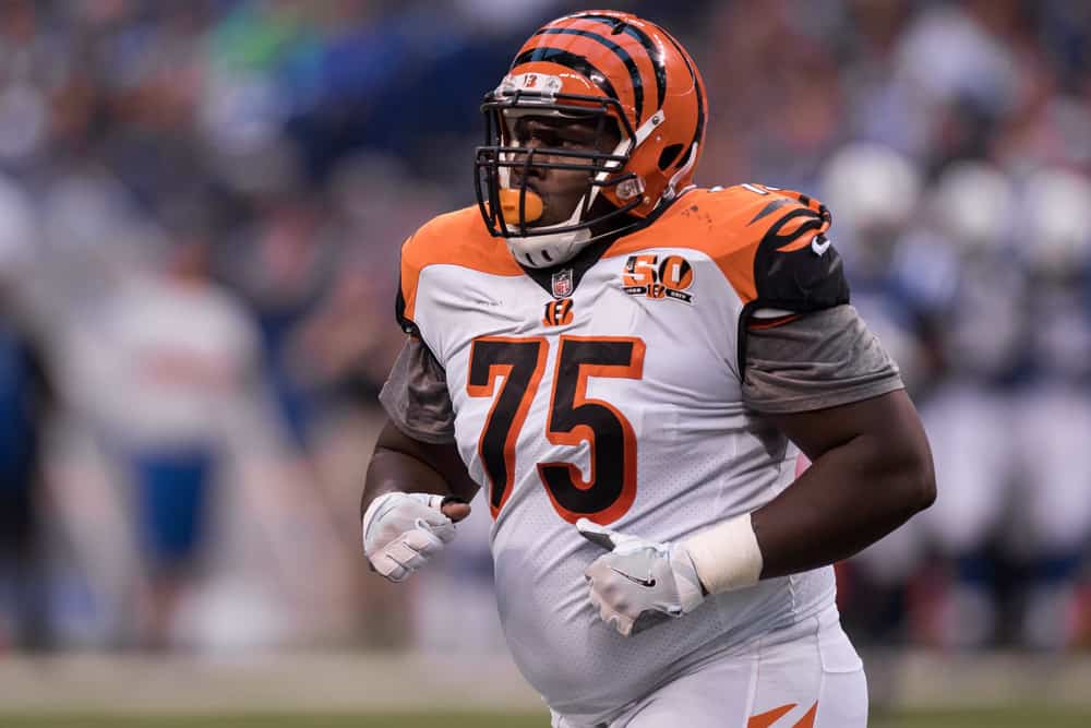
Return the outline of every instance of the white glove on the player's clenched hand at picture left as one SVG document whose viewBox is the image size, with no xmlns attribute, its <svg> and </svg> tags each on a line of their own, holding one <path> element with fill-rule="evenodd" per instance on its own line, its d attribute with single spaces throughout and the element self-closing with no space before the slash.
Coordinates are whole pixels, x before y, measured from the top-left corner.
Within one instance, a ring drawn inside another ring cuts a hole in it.
<svg viewBox="0 0 1091 728">
<path fill-rule="evenodd" d="M 371 566 L 401 582 L 455 538 L 455 524 L 443 514 L 443 496 L 386 493 L 363 514 L 363 553 Z"/>
</svg>

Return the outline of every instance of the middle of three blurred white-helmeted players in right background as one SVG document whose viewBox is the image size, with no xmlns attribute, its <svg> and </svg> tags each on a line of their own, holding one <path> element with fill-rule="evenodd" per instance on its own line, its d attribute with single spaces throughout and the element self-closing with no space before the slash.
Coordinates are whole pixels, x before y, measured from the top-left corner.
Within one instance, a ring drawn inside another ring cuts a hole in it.
<svg viewBox="0 0 1091 728">
<path fill-rule="evenodd" d="M 947 646 L 983 646 L 999 634 L 992 546 L 1022 472 L 1017 403 L 1031 355 L 1028 282 L 1011 248 L 1017 201 L 1011 181 L 984 163 L 950 165 L 928 201 L 934 247 L 957 266 L 955 288 L 934 301 L 936 381 L 922 406 L 936 477 L 949 484 L 924 520 L 951 564 L 935 635 Z"/>
</svg>

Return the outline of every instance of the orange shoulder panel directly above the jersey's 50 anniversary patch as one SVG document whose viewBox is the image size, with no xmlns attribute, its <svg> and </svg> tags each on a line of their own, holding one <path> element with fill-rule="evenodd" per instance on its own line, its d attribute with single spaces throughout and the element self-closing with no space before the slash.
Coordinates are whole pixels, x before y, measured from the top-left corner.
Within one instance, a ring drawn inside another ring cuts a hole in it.
<svg viewBox="0 0 1091 728">
<path fill-rule="evenodd" d="M 760 184 L 688 192 L 648 227 L 620 239 L 607 256 L 649 247 L 692 248 L 720 267 L 743 303 L 757 298 L 754 260 L 770 232 L 777 250 L 811 243 L 829 228 L 825 208 L 807 195 Z"/>
</svg>

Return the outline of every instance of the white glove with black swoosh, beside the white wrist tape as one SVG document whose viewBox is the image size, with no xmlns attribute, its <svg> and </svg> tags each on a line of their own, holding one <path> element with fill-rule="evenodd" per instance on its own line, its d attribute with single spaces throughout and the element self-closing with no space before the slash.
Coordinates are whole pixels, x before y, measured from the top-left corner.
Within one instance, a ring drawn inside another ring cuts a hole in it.
<svg viewBox="0 0 1091 728">
<path fill-rule="evenodd" d="M 700 580 L 681 544 L 659 544 L 576 522 L 587 540 L 609 549 L 584 571 L 599 617 L 624 636 L 692 612 L 704 600 Z"/>
</svg>

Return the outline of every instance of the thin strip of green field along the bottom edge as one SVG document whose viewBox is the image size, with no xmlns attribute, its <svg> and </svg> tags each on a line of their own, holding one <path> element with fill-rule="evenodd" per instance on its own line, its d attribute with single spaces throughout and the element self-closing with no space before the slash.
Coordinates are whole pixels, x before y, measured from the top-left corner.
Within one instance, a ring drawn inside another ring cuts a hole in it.
<svg viewBox="0 0 1091 728">
<path fill-rule="evenodd" d="M 871 728 L 1088 728 L 1091 712 L 1024 706 L 990 711 L 931 711 L 876 716 Z M 344 715 L 344 716 L 147 716 L 109 715 L 15 716 L 0 715 L 4 728 L 546 728 L 541 714 L 500 715 L 471 713 Z M 726 727 L 730 728 L 730 727 Z"/>
</svg>

